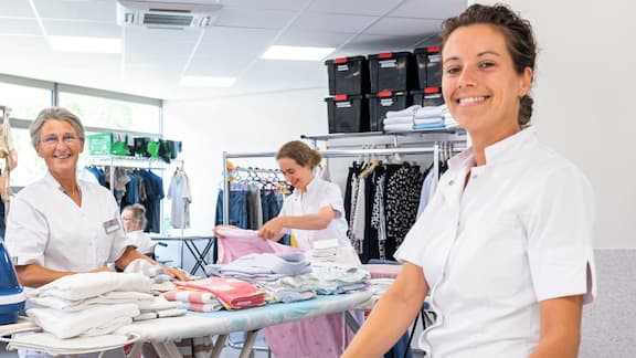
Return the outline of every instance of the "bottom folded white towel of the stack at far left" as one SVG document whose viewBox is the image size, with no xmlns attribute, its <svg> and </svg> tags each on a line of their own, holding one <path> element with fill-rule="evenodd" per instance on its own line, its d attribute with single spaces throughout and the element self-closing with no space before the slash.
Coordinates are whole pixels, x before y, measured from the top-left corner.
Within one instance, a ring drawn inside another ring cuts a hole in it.
<svg viewBox="0 0 636 358">
<path fill-rule="evenodd" d="M 78 312 L 63 312 L 54 308 L 30 308 L 26 315 L 45 331 L 59 338 L 80 335 L 105 335 L 132 322 L 139 315 L 135 304 L 95 306 Z M 128 319 L 126 319 L 128 318 Z"/>
</svg>

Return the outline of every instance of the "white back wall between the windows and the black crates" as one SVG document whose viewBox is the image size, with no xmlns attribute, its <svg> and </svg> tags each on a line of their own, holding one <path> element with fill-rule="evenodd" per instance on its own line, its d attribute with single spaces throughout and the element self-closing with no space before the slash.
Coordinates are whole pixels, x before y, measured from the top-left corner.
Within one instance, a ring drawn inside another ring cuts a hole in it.
<svg viewBox="0 0 636 358">
<path fill-rule="evenodd" d="M 317 63 L 317 66 L 321 66 Z M 223 151 L 276 151 L 303 134 L 326 134 L 327 88 L 177 101 L 165 105 L 165 133 L 183 140 L 186 172 L 191 186 L 192 229 L 210 234 L 223 176 Z M 272 159 L 234 159 L 234 165 L 277 168 Z"/>
</svg>

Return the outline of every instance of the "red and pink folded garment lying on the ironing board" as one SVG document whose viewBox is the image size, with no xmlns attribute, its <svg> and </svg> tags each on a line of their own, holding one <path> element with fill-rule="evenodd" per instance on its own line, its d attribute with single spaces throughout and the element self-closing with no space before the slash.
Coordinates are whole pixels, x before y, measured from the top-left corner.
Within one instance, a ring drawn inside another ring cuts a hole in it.
<svg viewBox="0 0 636 358">
<path fill-rule="evenodd" d="M 174 282 L 176 286 L 211 292 L 226 309 L 243 309 L 265 305 L 265 293 L 253 284 L 235 278 L 209 277 Z"/>
</svg>

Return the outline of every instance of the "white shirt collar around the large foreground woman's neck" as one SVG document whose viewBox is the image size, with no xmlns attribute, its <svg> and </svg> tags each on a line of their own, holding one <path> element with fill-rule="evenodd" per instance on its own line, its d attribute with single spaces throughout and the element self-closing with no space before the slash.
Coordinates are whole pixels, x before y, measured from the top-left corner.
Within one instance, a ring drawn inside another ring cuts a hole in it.
<svg viewBox="0 0 636 358">
<path fill-rule="evenodd" d="M 499 140 L 484 149 L 486 155 L 486 166 L 517 159 L 518 149 L 537 140 L 537 129 L 533 126 L 521 129 L 510 137 Z M 475 165 L 473 147 L 467 148 L 448 160 L 448 168 L 454 170 L 459 168 L 471 168 L 475 167 Z"/>
</svg>

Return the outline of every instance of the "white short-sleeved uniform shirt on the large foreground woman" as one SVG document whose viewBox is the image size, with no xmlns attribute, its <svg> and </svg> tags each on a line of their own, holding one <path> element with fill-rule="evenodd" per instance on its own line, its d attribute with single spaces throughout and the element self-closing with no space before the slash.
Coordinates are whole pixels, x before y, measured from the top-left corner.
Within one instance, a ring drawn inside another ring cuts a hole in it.
<svg viewBox="0 0 636 358">
<path fill-rule="evenodd" d="M 470 175 L 464 189 L 467 173 Z M 452 158 L 437 192 L 395 256 L 423 267 L 433 358 L 528 357 L 539 302 L 596 289 L 590 182 L 537 139 L 532 127 Z"/>
</svg>

